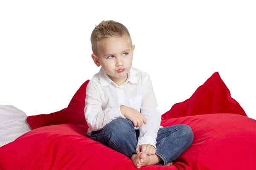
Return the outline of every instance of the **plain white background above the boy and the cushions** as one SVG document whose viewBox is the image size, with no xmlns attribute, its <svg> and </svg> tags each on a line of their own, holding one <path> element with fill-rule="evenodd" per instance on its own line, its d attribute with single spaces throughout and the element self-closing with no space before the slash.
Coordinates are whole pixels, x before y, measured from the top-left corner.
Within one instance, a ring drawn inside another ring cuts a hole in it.
<svg viewBox="0 0 256 170">
<path fill-rule="evenodd" d="M 255 9 L 255 0 L 2 0 L 0 104 L 27 115 L 66 108 L 99 71 L 94 26 L 115 20 L 130 31 L 133 66 L 151 75 L 162 114 L 218 71 L 256 119 Z"/>
</svg>

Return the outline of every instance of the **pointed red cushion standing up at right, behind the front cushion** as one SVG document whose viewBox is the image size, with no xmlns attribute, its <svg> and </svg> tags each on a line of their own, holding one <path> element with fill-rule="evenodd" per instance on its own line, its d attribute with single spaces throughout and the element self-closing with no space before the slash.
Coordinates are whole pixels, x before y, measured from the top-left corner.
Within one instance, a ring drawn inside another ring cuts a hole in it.
<svg viewBox="0 0 256 170">
<path fill-rule="evenodd" d="M 162 115 L 162 120 L 199 114 L 233 113 L 247 116 L 233 99 L 218 72 L 199 86 L 195 93 L 183 102 L 176 103 Z"/>
</svg>

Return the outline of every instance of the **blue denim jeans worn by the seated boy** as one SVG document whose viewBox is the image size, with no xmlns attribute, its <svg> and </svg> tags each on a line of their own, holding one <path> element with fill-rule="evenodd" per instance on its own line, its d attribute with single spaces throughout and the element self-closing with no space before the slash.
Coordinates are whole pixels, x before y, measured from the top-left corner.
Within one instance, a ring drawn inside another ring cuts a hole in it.
<svg viewBox="0 0 256 170">
<path fill-rule="evenodd" d="M 131 158 L 136 154 L 135 149 L 140 135 L 128 119 L 115 119 L 102 130 L 93 131 L 91 139 L 100 142 L 119 153 Z M 194 134 L 188 125 L 173 125 L 163 127 L 157 133 L 156 154 L 163 159 L 159 164 L 164 165 L 177 159 L 193 142 Z"/>
</svg>

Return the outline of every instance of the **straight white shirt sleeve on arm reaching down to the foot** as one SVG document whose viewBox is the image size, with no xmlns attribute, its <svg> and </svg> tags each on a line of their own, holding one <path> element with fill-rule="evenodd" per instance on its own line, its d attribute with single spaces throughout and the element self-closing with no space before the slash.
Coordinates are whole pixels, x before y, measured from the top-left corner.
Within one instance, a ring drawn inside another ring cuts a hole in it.
<svg viewBox="0 0 256 170">
<path fill-rule="evenodd" d="M 137 146 L 141 144 L 151 144 L 156 148 L 161 113 L 158 109 L 157 100 L 149 76 L 145 79 L 145 86 L 143 87 L 141 113 L 145 116 L 147 124 L 143 124 L 140 127 L 140 136 Z"/>
</svg>

